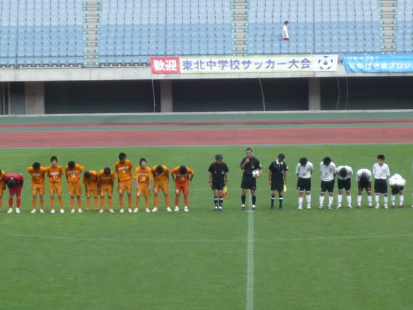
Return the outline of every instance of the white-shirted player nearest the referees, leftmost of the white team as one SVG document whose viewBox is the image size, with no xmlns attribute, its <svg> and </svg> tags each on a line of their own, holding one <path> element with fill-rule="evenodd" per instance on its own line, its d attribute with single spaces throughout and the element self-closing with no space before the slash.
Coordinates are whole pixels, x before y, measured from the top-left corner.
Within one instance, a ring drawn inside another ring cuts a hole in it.
<svg viewBox="0 0 413 310">
<path fill-rule="evenodd" d="M 306 190 L 307 209 L 311 209 L 311 174 L 314 171 L 313 163 L 310 163 L 306 157 L 301 157 L 296 167 L 298 176 L 298 209 L 303 209 L 303 192 Z"/>
</svg>

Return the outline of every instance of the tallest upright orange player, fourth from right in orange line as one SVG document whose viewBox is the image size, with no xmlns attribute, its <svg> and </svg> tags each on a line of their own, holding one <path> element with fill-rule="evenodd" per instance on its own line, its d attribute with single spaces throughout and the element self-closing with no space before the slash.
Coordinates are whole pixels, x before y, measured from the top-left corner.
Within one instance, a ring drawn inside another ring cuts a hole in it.
<svg viewBox="0 0 413 310">
<path fill-rule="evenodd" d="M 119 154 L 119 161 L 115 163 L 115 172 L 117 173 L 118 188 L 117 193 L 119 193 L 119 204 L 120 213 L 123 213 L 123 194 L 127 193 L 127 204 L 128 211 L 132 212 L 132 166 L 131 161 L 127 159 L 126 154 Z"/>
</svg>

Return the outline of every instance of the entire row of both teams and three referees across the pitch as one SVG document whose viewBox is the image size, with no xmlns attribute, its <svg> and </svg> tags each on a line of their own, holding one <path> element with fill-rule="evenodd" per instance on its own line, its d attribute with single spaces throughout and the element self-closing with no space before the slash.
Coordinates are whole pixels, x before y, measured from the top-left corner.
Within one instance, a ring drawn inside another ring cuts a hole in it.
<svg viewBox="0 0 413 310">
<path fill-rule="evenodd" d="M 272 190 L 271 209 L 274 209 L 274 201 L 279 195 L 279 209 L 282 209 L 283 192 L 286 188 L 288 166 L 284 161 L 284 154 L 279 154 L 276 161 L 269 165 L 269 185 Z M 384 207 L 388 208 L 388 185 L 386 179 L 390 176 L 390 169 L 384 162 L 384 155 L 377 156 L 377 163 L 373 166 L 373 176 L 375 178 L 374 193 L 376 198 L 376 208 L 379 208 L 379 196 L 383 194 Z M 32 176 L 32 213 L 37 212 L 36 202 L 37 196 L 40 197 L 40 212 L 44 212 L 44 194 L 45 194 L 45 174 L 49 178 L 50 192 L 50 207 L 51 212 L 55 212 L 54 195 L 59 198 L 60 212 L 64 213 L 64 202 L 62 198 L 62 178 L 66 176 L 68 183 L 71 212 L 75 212 L 75 201 L 77 198 L 78 212 L 82 212 L 81 208 L 81 182 L 80 175 L 85 168 L 74 161 L 69 161 L 65 167 L 63 174 L 62 166 L 57 164 L 57 157 L 52 156 L 50 159 L 51 166 L 45 168 L 40 166 L 40 163 L 33 163 L 33 166 L 28 168 L 28 173 Z M 158 211 L 158 194 L 162 191 L 165 197 L 166 210 L 171 212 L 170 197 L 168 196 L 169 175 L 173 177 L 175 182 L 175 209 L 179 211 L 180 194 L 184 197 L 184 211 L 189 211 L 189 185 L 194 177 L 194 171 L 187 166 L 177 166 L 169 172 L 168 168 L 163 165 L 146 166 L 146 159 L 139 161 L 139 166 L 135 169 L 133 177 L 136 180 L 136 200 L 135 207 L 132 209 L 132 163 L 127 159 L 126 154 L 119 154 L 119 161 L 115 163 L 115 173 L 118 176 L 118 193 L 120 212 L 124 212 L 123 195 L 127 193 L 128 212 L 138 212 L 139 200 L 141 197 L 145 199 L 146 212 L 151 212 L 149 209 L 149 197 L 153 188 L 153 209 L 152 212 Z M 262 174 L 262 166 L 260 161 L 255 158 L 252 148 L 246 149 L 246 156 L 240 162 L 240 168 L 243 170 L 243 179 L 241 181 L 242 195 L 241 207 L 245 210 L 245 200 L 248 190 L 252 194 L 252 210 L 255 210 L 256 204 L 256 179 Z M 228 183 L 228 166 L 223 162 L 223 156 L 217 154 L 215 162 L 209 166 L 209 186 L 214 191 L 214 207 L 216 211 L 221 211 L 223 206 L 223 197 L 226 192 Z M 311 209 L 311 175 L 314 171 L 313 163 L 310 163 L 305 157 L 301 158 L 296 166 L 296 175 L 298 176 L 296 190 L 298 191 L 298 209 L 303 209 L 303 193 L 306 192 L 307 209 Z M 336 167 L 330 157 L 325 157 L 320 163 L 321 171 L 321 191 L 319 209 L 323 208 L 325 193 L 328 191 L 328 209 L 332 209 L 333 190 L 335 186 L 335 176 L 337 176 L 337 185 L 339 194 L 337 196 L 337 208 L 342 207 L 342 193 L 345 190 L 348 207 L 351 207 L 351 176 L 353 171 L 350 166 Z M 113 211 L 112 192 L 115 183 L 115 173 L 109 167 L 102 169 L 99 172 L 85 171 L 83 173 L 83 184 L 86 190 L 86 211 L 91 207 L 91 197 L 94 197 L 95 212 L 104 212 L 105 196 L 109 205 L 109 212 Z M 358 182 L 357 207 L 361 207 L 361 197 L 363 190 L 366 190 L 368 206 L 372 207 L 371 197 L 371 177 L 372 173 L 366 168 L 359 169 L 356 173 Z M 389 178 L 389 184 L 392 189 L 391 202 L 392 207 L 395 207 L 395 195 L 399 194 L 400 207 L 404 207 L 403 189 L 405 179 L 399 174 L 395 174 Z M 3 191 L 8 185 L 9 200 L 8 213 L 13 212 L 13 195 L 16 195 L 16 212 L 20 212 L 21 205 L 21 189 L 23 187 L 23 175 L 19 173 L 6 174 L 0 171 L 0 208 L 2 205 Z M 99 207 L 100 198 L 100 209 Z"/>
</svg>

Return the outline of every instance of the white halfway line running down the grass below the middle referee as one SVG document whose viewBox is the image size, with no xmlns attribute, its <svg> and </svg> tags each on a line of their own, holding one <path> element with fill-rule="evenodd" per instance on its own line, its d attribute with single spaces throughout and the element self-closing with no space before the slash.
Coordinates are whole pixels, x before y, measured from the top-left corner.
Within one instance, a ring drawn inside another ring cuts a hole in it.
<svg viewBox="0 0 413 310">
<path fill-rule="evenodd" d="M 254 309 L 254 212 L 248 214 L 247 310 Z"/>
</svg>

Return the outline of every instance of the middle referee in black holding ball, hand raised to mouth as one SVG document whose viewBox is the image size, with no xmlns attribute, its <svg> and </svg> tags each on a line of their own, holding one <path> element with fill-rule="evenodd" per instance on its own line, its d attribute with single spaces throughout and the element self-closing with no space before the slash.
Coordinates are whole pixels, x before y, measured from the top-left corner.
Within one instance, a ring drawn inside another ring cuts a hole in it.
<svg viewBox="0 0 413 310">
<path fill-rule="evenodd" d="M 254 157 L 254 152 L 252 148 L 248 147 L 246 150 L 247 156 L 243 158 L 240 163 L 240 168 L 243 170 L 243 180 L 241 181 L 241 188 L 243 193 L 241 195 L 241 208 L 245 210 L 245 198 L 247 196 L 247 191 L 250 190 L 252 197 L 252 211 L 255 211 L 255 202 L 257 201 L 257 196 L 255 191 L 257 190 L 257 180 L 262 173 L 262 166 L 258 159 Z M 260 174 L 257 177 L 252 176 L 252 171 L 258 170 Z"/>
</svg>

